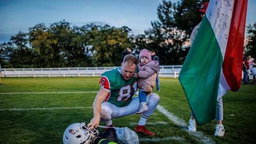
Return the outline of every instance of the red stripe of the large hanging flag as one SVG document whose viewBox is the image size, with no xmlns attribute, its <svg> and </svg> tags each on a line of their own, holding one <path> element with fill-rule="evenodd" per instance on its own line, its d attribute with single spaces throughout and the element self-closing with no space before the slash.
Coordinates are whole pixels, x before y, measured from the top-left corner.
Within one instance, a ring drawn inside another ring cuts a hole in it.
<svg viewBox="0 0 256 144">
<path fill-rule="evenodd" d="M 246 10 L 247 0 L 234 1 L 229 38 L 222 64 L 223 74 L 231 91 L 238 91 L 241 85 Z"/>
</svg>

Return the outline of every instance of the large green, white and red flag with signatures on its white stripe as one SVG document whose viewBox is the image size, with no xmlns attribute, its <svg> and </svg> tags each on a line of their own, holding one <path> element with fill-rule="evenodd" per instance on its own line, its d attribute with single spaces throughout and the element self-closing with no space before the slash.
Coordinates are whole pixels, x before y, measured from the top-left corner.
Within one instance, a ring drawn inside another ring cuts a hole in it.
<svg viewBox="0 0 256 144">
<path fill-rule="evenodd" d="M 247 0 L 211 0 L 178 79 L 198 125 L 216 117 L 217 99 L 241 85 Z"/>
</svg>

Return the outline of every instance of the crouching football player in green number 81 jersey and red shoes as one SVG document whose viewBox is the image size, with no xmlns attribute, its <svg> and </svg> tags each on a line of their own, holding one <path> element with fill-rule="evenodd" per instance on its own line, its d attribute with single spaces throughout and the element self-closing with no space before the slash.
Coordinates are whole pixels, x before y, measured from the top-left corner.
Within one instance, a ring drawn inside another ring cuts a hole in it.
<svg viewBox="0 0 256 144">
<path fill-rule="evenodd" d="M 138 89 L 138 79 L 133 77 L 138 72 L 138 58 L 131 54 L 124 57 L 121 67 L 107 71 L 99 80 L 101 86 L 93 102 L 93 118 L 87 127 L 91 130 L 99 124 L 99 120 L 107 126 L 113 126 L 112 118 L 134 114 L 138 110 L 139 98 L 132 97 Z M 146 93 L 152 91 L 150 85 L 143 85 Z M 135 128 L 135 132 L 142 132 L 154 136 L 145 128 L 148 117 L 153 113 L 159 102 L 159 96 L 151 93 L 147 95 L 148 111 L 144 112 Z"/>
</svg>

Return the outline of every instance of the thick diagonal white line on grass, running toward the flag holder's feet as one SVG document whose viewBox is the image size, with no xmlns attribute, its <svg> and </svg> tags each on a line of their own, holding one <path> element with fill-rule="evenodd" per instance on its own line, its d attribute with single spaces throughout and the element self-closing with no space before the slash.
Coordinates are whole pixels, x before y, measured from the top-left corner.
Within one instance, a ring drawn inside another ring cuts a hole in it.
<svg viewBox="0 0 256 144">
<path fill-rule="evenodd" d="M 178 118 L 173 113 L 170 113 L 164 107 L 158 105 L 157 110 L 160 111 L 162 114 L 164 114 L 169 120 L 173 121 L 174 124 L 184 129 L 188 134 L 190 134 L 191 136 L 197 137 L 200 140 L 200 142 L 205 144 L 215 144 L 215 142 L 212 141 L 209 137 L 204 136 L 202 132 L 190 132 L 184 120 Z"/>
</svg>

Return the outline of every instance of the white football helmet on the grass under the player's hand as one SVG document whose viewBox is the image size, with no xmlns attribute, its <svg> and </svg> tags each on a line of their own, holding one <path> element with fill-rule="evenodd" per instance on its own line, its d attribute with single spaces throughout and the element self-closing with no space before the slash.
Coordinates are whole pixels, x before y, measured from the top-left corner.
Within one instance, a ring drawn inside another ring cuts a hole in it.
<svg viewBox="0 0 256 144">
<path fill-rule="evenodd" d="M 64 144 L 91 144 L 92 139 L 99 134 L 97 129 L 89 130 L 86 124 L 74 123 L 68 126 L 63 134 Z"/>
</svg>

